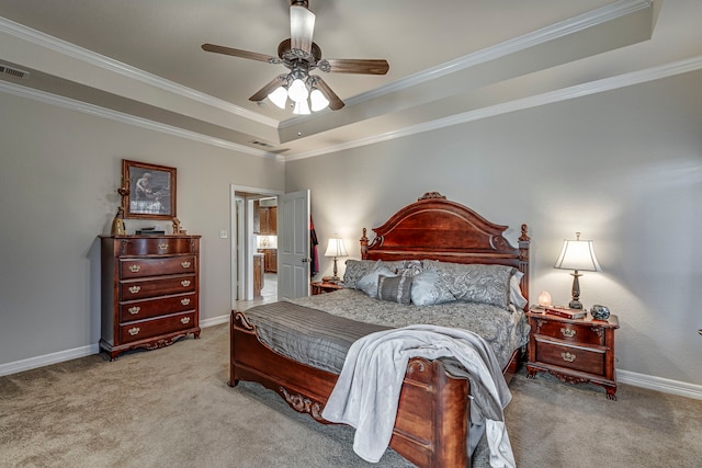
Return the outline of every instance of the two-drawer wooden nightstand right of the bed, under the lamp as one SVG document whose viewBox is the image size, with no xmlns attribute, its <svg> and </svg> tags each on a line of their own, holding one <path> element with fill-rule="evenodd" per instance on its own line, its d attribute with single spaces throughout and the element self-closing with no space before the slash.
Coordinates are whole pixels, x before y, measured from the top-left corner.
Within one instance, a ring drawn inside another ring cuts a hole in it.
<svg viewBox="0 0 702 468">
<path fill-rule="evenodd" d="M 526 363 L 529 377 L 547 372 L 562 381 L 596 384 L 604 387 L 607 398 L 616 400 L 616 316 L 612 315 L 608 320 L 595 320 L 588 313 L 582 319 L 566 319 L 532 308 L 526 317 L 531 326 Z"/>
</svg>

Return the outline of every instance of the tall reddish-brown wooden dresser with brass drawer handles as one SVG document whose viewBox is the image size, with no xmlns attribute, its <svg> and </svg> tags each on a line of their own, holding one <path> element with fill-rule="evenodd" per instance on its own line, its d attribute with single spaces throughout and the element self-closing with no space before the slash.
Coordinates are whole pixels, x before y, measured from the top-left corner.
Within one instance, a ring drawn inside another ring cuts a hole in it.
<svg viewBox="0 0 702 468">
<path fill-rule="evenodd" d="M 201 236 L 100 236 L 100 347 L 111 359 L 200 336 Z"/>
</svg>

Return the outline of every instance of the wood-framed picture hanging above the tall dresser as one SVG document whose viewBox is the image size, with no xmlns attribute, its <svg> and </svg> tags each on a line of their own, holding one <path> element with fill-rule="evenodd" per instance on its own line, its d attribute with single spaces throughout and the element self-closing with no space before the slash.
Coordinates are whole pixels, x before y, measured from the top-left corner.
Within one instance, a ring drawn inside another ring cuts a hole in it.
<svg viewBox="0 0 702 468">
<path fill-rule="evenodd" d="M 122 160 L 125 191 L 124 217 L 173 219 L 176 217 L 176 168 Z"/>
</svg>

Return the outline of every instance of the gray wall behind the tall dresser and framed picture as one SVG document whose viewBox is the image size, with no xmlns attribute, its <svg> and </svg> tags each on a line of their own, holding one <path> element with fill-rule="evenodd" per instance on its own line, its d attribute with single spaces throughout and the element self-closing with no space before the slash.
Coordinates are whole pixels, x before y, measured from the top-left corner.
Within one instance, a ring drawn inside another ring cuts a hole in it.
<svg viewBox="0 0 702 468">
<path fill-rule="evenodd" d="M 201 320 L 228 315 L 229 185 L 282 191 L 283 162 L 4 93 L 0 109 L 0 365 L 98 343 L 122 159 L 177 168 L 178 217 L 203 236 Z"/>
</svg>

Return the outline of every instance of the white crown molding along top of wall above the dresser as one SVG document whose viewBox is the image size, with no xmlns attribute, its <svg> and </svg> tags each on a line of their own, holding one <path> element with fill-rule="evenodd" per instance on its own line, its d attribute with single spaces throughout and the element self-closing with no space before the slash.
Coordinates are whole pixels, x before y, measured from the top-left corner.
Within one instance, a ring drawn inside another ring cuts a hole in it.
<svg viewBox="0 0 702 468">
<path fill-rule="evenodd" d="M 125 114 L 118 111 L 114 111 L 99 105 L 89 104 L 82 101 L 77 101 L 70 98 L 52 94 L 46 91 L 39 91 L 33 88 L 22 87 L 20 84 L 10 83 L 7 81 L 0 81 L 0 92 L 13 94 L 20 98 L 31 99 L 33 101 L 42 102 L 44 104 L 50 104 L 70 111 L 78 111 L 84 114 L 94 115 L 98 117 L 109 118 L 111 121 L 121 122 L 123 124 L 133 125 L 149 130 L 159 132 L 181 138 L 186 138 L 193 141 L 216 146 L 219 148 L 230 149 L 247 155 L 270 158 L 275 160 L 282 160 L 280 155 L 262 151 L 256 148 L 249 148 L 244 145 L 238 145 L 231 141 L 223 140 L 220 138 L 211 137 L 196 132 L 185 130 L 183 128 L 173 127 L 171 125 L 161 124 L 160 122 L 149 121 L 144 117 L 136 117 L 131 114 Z"/>
</svg>

